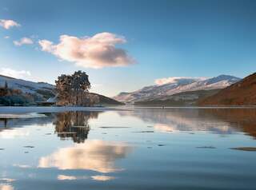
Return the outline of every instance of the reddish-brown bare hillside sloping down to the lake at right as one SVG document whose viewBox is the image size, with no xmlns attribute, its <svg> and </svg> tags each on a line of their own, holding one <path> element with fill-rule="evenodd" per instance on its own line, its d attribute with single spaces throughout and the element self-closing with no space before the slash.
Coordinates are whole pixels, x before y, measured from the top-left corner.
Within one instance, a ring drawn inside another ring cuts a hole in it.
<svg viewBox="0 0 256 190">
<path fill-rule="evenodd" d="M 256 105 L 256 73 L 206 97 L 199 105 Z"/>
</svg>

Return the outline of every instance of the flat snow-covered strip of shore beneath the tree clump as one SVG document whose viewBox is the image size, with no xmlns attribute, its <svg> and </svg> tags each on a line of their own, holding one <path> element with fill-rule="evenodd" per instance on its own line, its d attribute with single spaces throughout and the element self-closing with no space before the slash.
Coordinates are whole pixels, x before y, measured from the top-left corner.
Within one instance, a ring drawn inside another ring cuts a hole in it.
<svg viewBox="0 0 256 190">
<path fill-rule="evenodd" d="M 107 110 L 120 110 L 118 107 L 0 107 L 0 113 L 58 113 L 68 111 L 101 112 Z"/>
</svg>

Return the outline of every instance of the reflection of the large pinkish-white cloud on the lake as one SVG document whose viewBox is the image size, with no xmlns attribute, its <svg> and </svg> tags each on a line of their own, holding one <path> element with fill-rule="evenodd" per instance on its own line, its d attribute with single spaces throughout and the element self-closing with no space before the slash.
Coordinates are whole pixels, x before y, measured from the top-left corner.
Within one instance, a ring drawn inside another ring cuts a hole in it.
<svg viewBox="0 0 256 190">
<path fill-rule="evenodd" d="M 41 157 L 39 168 L 86 169 L 97 172 L 117 172 L 114 161 L 125 158 L 131 147 L 123 143 L 86 141 L 67 148 L 59 148 L 49 156 Z"/>
</svg>

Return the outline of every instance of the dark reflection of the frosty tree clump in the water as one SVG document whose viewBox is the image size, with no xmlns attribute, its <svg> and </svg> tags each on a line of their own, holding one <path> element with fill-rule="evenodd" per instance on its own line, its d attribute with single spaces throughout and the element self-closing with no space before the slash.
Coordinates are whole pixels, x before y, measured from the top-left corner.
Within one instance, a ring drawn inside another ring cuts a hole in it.
<svg viewBox="0 0 256 190">
<path fill-rule="evenodd" d="M 82 143 L 90 131 L 90 118 L 98 118 L 98 112 L 56 113 L 55 132 L 62 140 L 71 138 L 75 143 Z"/>
</svg>

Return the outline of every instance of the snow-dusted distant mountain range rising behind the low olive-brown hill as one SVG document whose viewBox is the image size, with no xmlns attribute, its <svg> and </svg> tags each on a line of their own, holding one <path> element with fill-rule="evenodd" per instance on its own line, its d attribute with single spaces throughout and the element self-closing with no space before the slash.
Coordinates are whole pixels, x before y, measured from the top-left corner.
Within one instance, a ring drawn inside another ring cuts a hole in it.
<svg viewBox="0 0 256 190">
<path fill-rule="evenodd" d="M 172 82 L 164 85 L 151 85 L 138 89 L 132 93 L 119 93 L 114 97 L 117 101 L 136 102 L 150 100 L 165 100 L 175 93 L 187 91 L 223 89 L 241 79 L 230 75 L 220 75 L 218 77 L 203 78 L 175 78 Z"/>
</svg>

